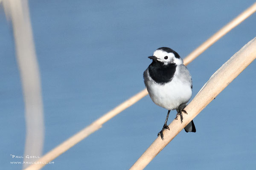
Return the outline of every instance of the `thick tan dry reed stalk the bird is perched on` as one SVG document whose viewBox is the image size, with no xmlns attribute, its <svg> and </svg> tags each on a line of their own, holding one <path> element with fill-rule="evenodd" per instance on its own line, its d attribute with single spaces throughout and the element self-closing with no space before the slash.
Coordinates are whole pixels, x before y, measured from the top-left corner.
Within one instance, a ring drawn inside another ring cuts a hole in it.
<svg viewBox="0 0 256 170">
<path fill-rule="evenodd" d="M 148 147 L 142 156 L 134 163 L 130 170 L 143 170 L 163 148 L 180 133 L 180 131 L 192 121 L 230 82 L 233 81 L 253 60 L 256 59 L 256 37 L 244 45 L 224 65 L 210 77 L 208 82 L 201 88 L 195 98 L 187 105 L 183 114 L 183 123 L 173 120 L 170 130 L 164 131 L 164 140 L 159 137 Z"/>
</svg>

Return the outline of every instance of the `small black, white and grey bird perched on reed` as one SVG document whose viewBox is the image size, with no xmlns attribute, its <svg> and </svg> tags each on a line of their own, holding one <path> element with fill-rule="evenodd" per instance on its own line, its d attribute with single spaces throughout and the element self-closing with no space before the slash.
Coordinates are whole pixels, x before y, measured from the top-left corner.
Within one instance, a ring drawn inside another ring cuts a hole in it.
<svg viewBox="0 0 256 170">
<path fill-rule="evenodd" d="M 170 130 L 167 125 L 169 113 L 176 110 L 176 118 L 180 115 L 192 96 L 192 78 L 183 64 L 183 59 L 176 51 L 168 47 L 161 47 L 154 51 L 151 64 L 143 73 L 144 83 L 151 100 L 158 106 L 168 110 L 162 130 L 157 134 L 163 138 L 163 131 Z M 184 128 L 186 132 L 196 132 L 193 120 Z"/>
</svg>

